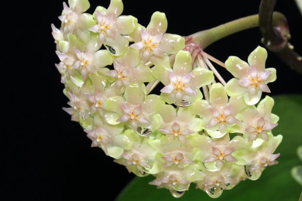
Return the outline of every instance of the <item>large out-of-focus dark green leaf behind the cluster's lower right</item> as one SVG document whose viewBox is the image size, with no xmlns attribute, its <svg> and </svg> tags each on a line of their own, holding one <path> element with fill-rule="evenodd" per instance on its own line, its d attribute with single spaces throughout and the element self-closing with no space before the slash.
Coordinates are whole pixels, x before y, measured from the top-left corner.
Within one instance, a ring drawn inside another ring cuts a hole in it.
<svg viewBox="0 0 302 201">
<path fill-rule="evenodd" d="M 246 180 L 240 182 L 231 190 L 224 190 L 222 195 L 215 200 L 255 201 L 255 200 L 287 200 L 297 201 L 301 193 L 301 186 L 291 177 L 291 168 L 301 165 L 297 157 L 297 148 L 302 142 L 300 124 L 302 122 L 302 96 L 283 95 L 273 97 L 275 105 L 272 112 L 280 117 L 279 125 L 273 129 L 274 136 L 283 135 L 281 144 L 275 153 L 281 153 L 277 165 L 270 166 L 262 172 L 256 181 Z M 174 198 L 167 189 L 156 189 L 149 185 L 155 177 L 136 177 L 117 196 L 116 201 L 213 201 L 207 193 L 195 189 L 191 184 L 190 189 L 181 198 Z"/>
</svg>

